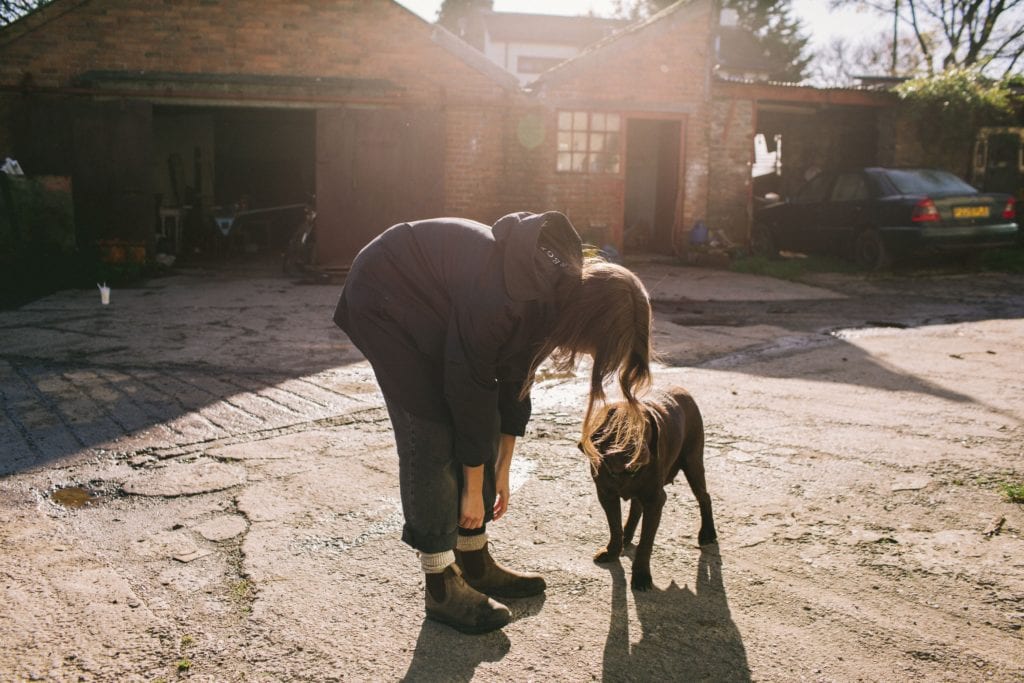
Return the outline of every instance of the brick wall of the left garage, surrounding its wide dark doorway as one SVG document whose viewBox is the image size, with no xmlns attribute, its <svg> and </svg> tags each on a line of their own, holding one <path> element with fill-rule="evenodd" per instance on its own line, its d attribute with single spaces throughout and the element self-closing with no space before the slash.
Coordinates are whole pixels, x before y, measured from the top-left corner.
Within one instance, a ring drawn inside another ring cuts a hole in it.
<svg viewBox="0 0 1024 683">
<path fill-rule="evenodd" d="M 350 98 L 306 86 L 196 80 L 175 84 L 177 99 L 164 101 L 443 111 L 445 211 L 490 222 L 532 208 L 536 185 L 520 180 L 529 176 L 522 168 L 529 155 L 510 145 L 516 118 L 508 108 L 522 95 L 436 44 L 435 31 L 389 0 L 62 0 L 0 34 L 0 86 L 29 80 L 72 92 L 89 71 L 386 80 L 390 89 Z M 139 99 L 168 94 L 163 85 L 123 87 L 139 88 L 126 90 Z M 198 94 L 210 97 L 188 97 Z M 18 135 L 12 113 L 23 111 L 22 99 L 17 90 L 0 93 L 0 140 Z"/>
</svg>

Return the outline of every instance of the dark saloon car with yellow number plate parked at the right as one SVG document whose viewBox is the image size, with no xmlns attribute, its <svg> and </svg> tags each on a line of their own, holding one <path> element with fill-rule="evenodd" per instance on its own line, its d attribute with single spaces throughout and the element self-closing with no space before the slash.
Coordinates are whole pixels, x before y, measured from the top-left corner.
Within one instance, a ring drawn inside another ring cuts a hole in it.
<svg viewBox="0 0 1024 683">
<path fill-rule="evenodd" d="M 755 253 L 830 254 L 865 268 L 934 251 L 1017 242 L 1016 200 L 980 193 L 934 169 L 861 168 L 819 173 L 793 198 L 754 216 Z"/>
</svg>

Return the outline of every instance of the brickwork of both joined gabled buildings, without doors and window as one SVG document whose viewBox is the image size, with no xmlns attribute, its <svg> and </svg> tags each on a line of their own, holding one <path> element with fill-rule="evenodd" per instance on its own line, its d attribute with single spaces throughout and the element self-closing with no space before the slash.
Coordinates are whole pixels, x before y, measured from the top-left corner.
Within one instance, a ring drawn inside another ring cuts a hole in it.
<svg viewBox="0 0 1024 683">
<path fill-rule="evenodd" d="M 434 27 L 388 0 L 61 0 L 4 32 L 0 86 L 31 75 L 37 87 L 68 88 L 87 71 L 386 79 L 397 88 L 380 103 L 444 112 L 446 213 L 489 223 L 509 211 L 559 209 L 589 239 L 618 243 L 624 176 L 555 173 L 556 112 L 618 112 L 624 126 L 651 111 L 685 119 L 678 226 L 703 218 L 711 4 L 695 0 L 585 56 L 530 99 L 434 43 Z M 225 101 L 273 102 L 262 86 L 216 87 Z M 303 105 L 349 103 L 306 93 Z"/>
</svg>

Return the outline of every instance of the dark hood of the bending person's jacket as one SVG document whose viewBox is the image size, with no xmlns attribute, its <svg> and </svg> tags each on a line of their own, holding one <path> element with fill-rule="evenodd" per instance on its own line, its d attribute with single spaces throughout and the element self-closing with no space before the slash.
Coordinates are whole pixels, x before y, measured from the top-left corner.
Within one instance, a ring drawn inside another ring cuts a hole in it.
<svg viewBox="0 0 1024 683">
<path fill-rule="evenodd" d="M 550 298 L 580 282 L 583 243 L 564 214 L 510 213 L 493 229 L 505 247 L 505 289 L 513 301 Z"/>
</svg>

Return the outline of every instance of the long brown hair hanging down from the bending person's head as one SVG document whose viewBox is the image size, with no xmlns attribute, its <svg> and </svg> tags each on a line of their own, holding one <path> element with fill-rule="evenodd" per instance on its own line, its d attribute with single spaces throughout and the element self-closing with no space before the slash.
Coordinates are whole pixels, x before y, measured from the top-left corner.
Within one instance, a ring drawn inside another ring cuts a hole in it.
<svg viewBox="0 0 1024 683">
<path fill-rule="evenodd" d="M 616 372 L 623 403 L 608 418 L 605 431 L 614 435 L 612 447 L 632 453 L 630 464 L 638 464 L 647 429 L 638 396 L 651 383 L 650 331 L 650 300 L 640 279 L 621 265 L 590 259 L 584 262 L 579 286 L 559 307 L 554 330 L 534 358 L 530 377 L 549 355 L 561 372 L 574 369 L 580 355 L 593 356 L 582 445 L 594 464 L 600 454 L 592 437 L 603 417 L 597 408 L 607 402 L 604 383 Z"/>
</svg>

